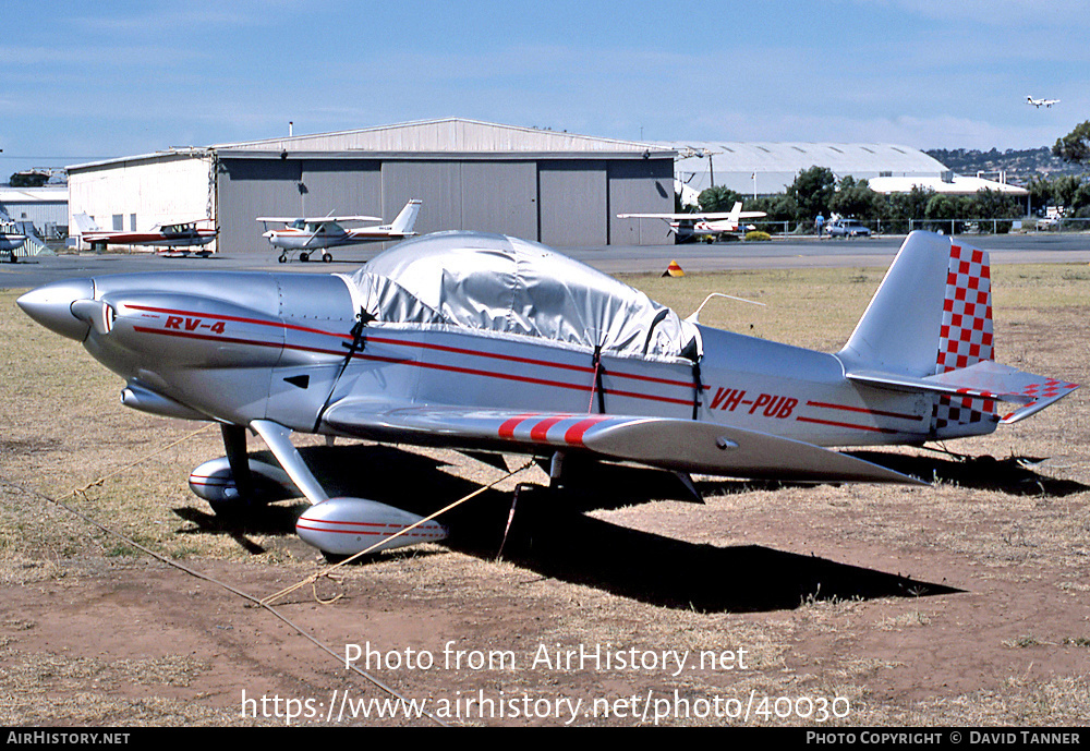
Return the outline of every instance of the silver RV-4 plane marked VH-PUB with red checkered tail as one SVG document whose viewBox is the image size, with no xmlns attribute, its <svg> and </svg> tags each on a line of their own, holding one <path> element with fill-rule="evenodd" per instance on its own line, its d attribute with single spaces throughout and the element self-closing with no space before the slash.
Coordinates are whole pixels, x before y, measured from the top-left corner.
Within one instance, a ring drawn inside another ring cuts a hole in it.
<svg viewBox="0 0 1090 751">
<path fill-rule="evenodd" d="M 437 540 L 434 520 L 330 498 L 293 431 L 629 461 L 736 477 L 922 484 L 831 446 L 993 432 L 1076 387 L 992 360 L 988 254 L 913 232 L 835 354 L 683 319 L 536 243 L 443 232 L 352 275 L 174 271 L 53 282 L 19 305 L 124 380 L 122 403 L 220 424 L 216 507 L 302 494 L 335 555 Z M 259 435 L 283 468 L 246 453 Z M 365 479 L 361 477 L 361 482 Z"/>
</svg>

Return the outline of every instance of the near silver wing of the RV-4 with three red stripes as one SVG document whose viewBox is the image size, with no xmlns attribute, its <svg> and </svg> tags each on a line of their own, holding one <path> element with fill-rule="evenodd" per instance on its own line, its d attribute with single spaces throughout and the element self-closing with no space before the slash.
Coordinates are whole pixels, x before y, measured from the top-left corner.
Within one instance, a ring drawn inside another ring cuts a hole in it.
<svg viewBox="0 0 1090 751">
<path fill-rule="evenodd" d="M 326 411 L 323 420 L 338 432 L 373 440 L 525 453 L 562 450 L 732 477 L 925 484 L 811 444 L 703 421 L 384 407 L 388 404 L 342 399 Z"/>
</svg>

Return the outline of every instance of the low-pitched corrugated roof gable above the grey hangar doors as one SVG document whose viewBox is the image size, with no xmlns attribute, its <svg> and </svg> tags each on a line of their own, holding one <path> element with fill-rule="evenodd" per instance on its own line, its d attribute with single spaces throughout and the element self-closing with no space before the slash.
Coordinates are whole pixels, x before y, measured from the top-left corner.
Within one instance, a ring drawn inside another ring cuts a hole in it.
<svg viewBox="0 0 1090 751">
<path fill-rule="evenodd" d="M 235 144 L 218 144 L 223 152 L 378 152 L 378 153 L 632 153 L 662 155 L 652 144 L 597 138 L 560 131 L 499 125 L 445 118 L 336 133 L 294 135 Z"/>
</svg>

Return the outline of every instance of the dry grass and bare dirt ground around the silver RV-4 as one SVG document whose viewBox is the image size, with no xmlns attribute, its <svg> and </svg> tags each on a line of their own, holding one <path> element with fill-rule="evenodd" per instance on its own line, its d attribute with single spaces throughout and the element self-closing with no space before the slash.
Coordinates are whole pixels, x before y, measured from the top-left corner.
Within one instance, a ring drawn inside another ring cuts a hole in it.
<svg viewBox="0 0 1090 751">
<path fill-rule="evenodd" d="M 832 349 L 879 276 L 705 281 L 742 296 L 798 298 L 811 312 L 808 294 L 820 298 L 834 315 L 815 320 L 782 305 L 722 323 Z M 1086 267 L 993 276 L 998 360 L 1090 383 Z M 685 282 L 680 300 L 656 287 L 667 282 L 629 281 L 681 310 L 703 294 L 700 280 Z M 609 468 L 562 493 L 521 492 L 506 542 L 512 490 L 542 485 L 538 469 L 501 480 L 499 469 L 453 451 L 330 449 L 296 436 L 330 489 L 412 510 L 501 482 L 447 518 L 449 541 L 343 567 L 337 580 L 276 601 L 274 614 L 171 564 L 255 598 L 277 593 L 327 566 L 293 534 L 301 505 L 217 519 L 185 480 L 222 453 L 218 432 L 122 408 L 122 384 L 15 312 L 14 296 L 0 296 L 9 312 L 0 322 L 4 725 L 1052 726 L 1090 717 L 1087 389 L 992 436 L 947 445 L 968 460 L 922 449 L 865 455 L 930 487 L 698 477 L 699 505 L 670 475 Z M 780 330 L 784 319 L 795 323 Z M 512 469 L 522 463 L 508 458 Z M 85 489 L 71 495 L 76 488 Z M 361 668 L 370 659 L 370 678 L 346 669 L 346 653 L 359 654 Z"/>
</svg>

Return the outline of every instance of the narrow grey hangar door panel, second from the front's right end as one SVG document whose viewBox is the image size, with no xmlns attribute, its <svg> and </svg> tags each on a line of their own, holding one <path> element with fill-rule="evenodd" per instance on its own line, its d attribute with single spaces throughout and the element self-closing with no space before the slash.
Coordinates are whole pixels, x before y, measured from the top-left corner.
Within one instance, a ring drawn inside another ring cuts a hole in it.
<svg viewBox="0 0 1090 751">
<path fill-rule="evenodd" d="M 543 243 L 585 247 L 608 242 L 604 160 L 540 161 L 537 189 Z"/>
</svg>

